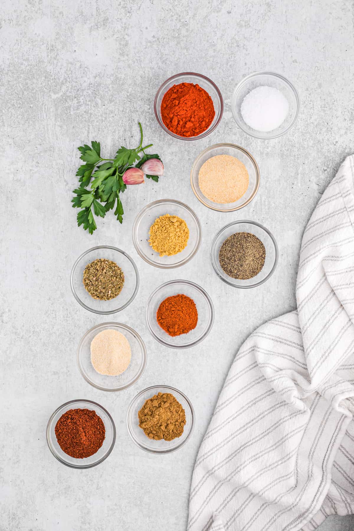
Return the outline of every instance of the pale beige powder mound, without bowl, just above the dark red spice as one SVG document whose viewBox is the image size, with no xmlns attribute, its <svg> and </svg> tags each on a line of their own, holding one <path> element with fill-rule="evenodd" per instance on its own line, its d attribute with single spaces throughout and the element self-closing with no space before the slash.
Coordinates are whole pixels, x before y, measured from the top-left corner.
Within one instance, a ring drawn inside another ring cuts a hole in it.
<svg viewBox="0 0 354 531">
<path fill-rule="evenodd" d="M 132 352 L 127 338 L 117 330 L 103 330 L 91 341 L 91 363 L 100 374 L 117 376 L 131 362 Z"/>
</svg>

